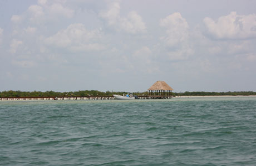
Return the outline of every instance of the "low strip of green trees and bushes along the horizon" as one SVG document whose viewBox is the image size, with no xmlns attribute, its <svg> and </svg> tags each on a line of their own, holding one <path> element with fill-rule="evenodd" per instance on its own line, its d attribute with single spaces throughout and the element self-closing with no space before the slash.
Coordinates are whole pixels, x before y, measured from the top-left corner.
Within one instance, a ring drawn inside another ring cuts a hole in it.
<svg viewBox="0 0 256 166">
<path fill-rule="evenodd" d="M 81 90 L 81 91 L 71 91 L 71 92 L 55 92 L 55 91 L 2 91 L 0 92 L 0 97 L 52 97 L 52 96 L 112 96 L 127 94 L 128 92 L 113 92 L 106 91 L 101 92 L 97 90 Z M 133 92 L 134 95 L 147 96 L 149 92 Z M 253 91 L 234 91 L 234 92 L 173 92 L 173 96 L 251 96 L 256 95 Z"/>
</svg>

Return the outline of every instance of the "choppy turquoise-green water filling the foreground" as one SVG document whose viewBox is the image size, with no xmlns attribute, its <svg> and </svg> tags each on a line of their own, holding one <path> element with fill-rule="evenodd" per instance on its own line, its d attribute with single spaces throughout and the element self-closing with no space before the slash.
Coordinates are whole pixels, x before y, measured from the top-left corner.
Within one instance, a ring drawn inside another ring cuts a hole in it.
<svg viewBox="0 0 256 166">
<path fill-rule="evenodd" d="M 0 102 L 0 165 L 256 165 L 256 97 Z"/>
</svg>

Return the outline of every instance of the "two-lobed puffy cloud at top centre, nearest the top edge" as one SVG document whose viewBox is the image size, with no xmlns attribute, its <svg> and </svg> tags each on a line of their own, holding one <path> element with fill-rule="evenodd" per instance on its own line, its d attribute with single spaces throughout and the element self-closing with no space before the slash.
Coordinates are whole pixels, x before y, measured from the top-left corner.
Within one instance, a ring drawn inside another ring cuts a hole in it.
<svg viewBox="0 0 256 166">
<path fill-rule="evenodd" d="M 131 34 L 146 32 L 146 25 L 137 12 L 132 11 L 128 13 L 127 17 L 120 16 L 119 2 L 112 3 L 109 11 L 100 13 L 100 17 L 104 18 L 107 24 L 116 30 L 123 30 Z"/>
</svg>

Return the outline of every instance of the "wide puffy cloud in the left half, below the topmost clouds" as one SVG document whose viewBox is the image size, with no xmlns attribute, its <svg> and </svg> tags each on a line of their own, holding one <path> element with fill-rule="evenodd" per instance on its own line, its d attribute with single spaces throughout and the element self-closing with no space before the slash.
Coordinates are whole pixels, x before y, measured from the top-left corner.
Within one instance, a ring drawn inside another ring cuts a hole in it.
<svg viewBox="0 0 256 166">
<path fill-rule="evenodd" d="M 55 35 L 45 39 L 46 45 L 67 48 L 71 51 L 102 50 L 104 45 L 96 43 L 101 38 L 100 30 L 87 30 L 83 24 L 71 24 Z"/>
</svg>

